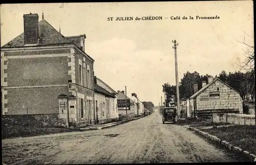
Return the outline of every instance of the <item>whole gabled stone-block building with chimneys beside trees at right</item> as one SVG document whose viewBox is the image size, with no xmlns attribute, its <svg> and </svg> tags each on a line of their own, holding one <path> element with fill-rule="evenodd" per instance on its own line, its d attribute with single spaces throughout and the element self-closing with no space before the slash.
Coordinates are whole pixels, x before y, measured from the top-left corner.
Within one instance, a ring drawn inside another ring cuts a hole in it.
<svg viewBox="0 0 256 165">
<path fill-rule="evenodd" d="M 219 78 L 208 78 L 202 81 L 202 88 L 198 91 L 198 86 L 194 85 L 194 95 L 192 95 L 187 106 L 188 117 L 193 116 L 194 112 L 229 112 L 243 114 L 243 101 L 240 94 L 221 81 Z"/>
</svg>

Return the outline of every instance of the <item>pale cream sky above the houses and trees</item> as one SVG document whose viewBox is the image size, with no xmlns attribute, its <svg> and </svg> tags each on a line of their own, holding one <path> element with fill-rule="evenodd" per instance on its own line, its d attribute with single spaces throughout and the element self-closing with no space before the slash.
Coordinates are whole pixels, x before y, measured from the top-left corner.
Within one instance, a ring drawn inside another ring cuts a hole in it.
<svg viewBox="0 0 256 165">
<path fill-rule="evenodd" d="M 253 45 L 253 2 L 211 1 L 2 4 L 1 46 L 23 33 L 24 14 L 37 13 L 41 20 L 42 11 L 63 36 L 86 34 L 85 51 L 95 60 L 97 77 L 115 91 L 126 86 L 127 96 L 136 93 L 139 100 L 155 105 L 164 96 L 162 85 L 176 84 L 173 40 L 178 42 L 179 80 L 186 71 L 213 76 L 222 70 L 243 71 L 238 64 L 245 59 L 246 46 L 240 42 Z M 216 15 L 220 19 L 196 19 Z M 163 19 L 135 20 L 142 16 Z"/>
</svg>

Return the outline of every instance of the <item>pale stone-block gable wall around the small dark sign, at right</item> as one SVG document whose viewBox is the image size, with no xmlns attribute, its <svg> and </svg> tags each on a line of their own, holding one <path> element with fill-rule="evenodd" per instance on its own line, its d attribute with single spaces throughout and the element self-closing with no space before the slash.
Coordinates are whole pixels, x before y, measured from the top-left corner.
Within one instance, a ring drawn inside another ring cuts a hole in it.
<svg viewBox="0 0 256 165">
<path fill-rule="evenodd" d="M 218 91 L 220 92 L 220 98 L 209 98 L 209 92 Z M 204 97 L 204 100 L 201 100 L 202 97 Z M 205 98 L 208 98 L 208 100 Z M 219 80 L 198 95 L 196 99 L 198 111 L 206 109 L 238 109 L 240 114 L 243 113 L 243 101 L 240 94 Z M 190 103 L 193 104 L 193 101 L 191 100 Z"/>
</svg>

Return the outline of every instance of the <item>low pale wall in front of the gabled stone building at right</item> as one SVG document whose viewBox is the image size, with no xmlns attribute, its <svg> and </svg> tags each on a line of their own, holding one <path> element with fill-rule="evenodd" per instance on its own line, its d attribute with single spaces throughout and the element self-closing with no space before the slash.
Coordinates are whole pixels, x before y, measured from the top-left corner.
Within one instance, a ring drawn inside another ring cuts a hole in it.
<svg viewBox="0 0 256 165">
<path fill-rule="evenodd" d="M 214 123 L 229 123 L 237 125 L 255 125 L 255 115 L 245 114 L 212 114 Z"/>
</svg>

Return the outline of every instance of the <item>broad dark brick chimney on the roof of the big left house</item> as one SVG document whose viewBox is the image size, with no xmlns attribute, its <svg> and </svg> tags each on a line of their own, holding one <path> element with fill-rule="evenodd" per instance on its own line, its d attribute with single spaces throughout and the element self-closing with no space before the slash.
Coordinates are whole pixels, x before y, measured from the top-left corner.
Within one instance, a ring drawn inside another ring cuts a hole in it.
<svg viewBox="0 0 256 165">
<path fill-rule="evenodd" d="M 24 43 L 37 44 L 38 42 L 38 14 L 24 14 Z"/>
</svg>

